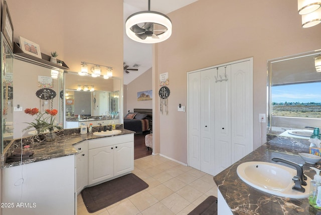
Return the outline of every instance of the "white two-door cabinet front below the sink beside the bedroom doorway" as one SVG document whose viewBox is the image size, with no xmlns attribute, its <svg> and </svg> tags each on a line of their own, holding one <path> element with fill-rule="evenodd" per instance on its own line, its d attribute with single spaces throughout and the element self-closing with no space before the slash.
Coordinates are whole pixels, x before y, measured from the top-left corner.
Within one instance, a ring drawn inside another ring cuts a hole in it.
<svg viewBox="0 0 321 215">
<path fill-rule="evenodd" d="M 133 134 L 88 141 L 88 185 L 115 178 L 133 169 Z"/>
</svg>

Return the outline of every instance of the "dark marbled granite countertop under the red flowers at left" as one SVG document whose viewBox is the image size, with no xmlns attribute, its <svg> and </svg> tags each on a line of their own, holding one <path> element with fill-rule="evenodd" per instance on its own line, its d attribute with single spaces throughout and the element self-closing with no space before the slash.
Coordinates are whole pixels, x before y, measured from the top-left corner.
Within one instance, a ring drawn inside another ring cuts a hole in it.
<svg viewBox="0 0 321 215">
<path fill-rule="evenodd" d="M 129 131 L 122 128 L 116 128 L 122 132 L 112 136 L 133 134 L 135 132 Z M 66 132 L 67 131 L 67 132 Z M 69 131 L 76 131 L 70 132 Z M 57 133 L 55 141 L 48 142 L 38 136 L 31 136 L 28 138 L 23 138 L 23 145 L 30 145 L 31 151 L 34 151 L 32 158 L 23 160 L 22 164 L 34 163 L 44 160 L 49 160 L 53 158 L 64 157 L 68 155 L 77 154 L 77 150 L 73 147 L 74 145 L 91 139 L 106 138 L 111 136 L 97 136 L 93 135 L 93 132 L 87 134 L 80 134 L 80 129 L 67 129 L 62 130 Z M 13 140 L 12 143 L 4 150 L 1 156 L 1 168 L 8 168 L 13 166 L 21 165 L 21 161 L 15 161 L 11 163 L 6 163 L 7 157 L 11 154 L 14 149 L 21 148 L 21 139 Z"/>
</svg>

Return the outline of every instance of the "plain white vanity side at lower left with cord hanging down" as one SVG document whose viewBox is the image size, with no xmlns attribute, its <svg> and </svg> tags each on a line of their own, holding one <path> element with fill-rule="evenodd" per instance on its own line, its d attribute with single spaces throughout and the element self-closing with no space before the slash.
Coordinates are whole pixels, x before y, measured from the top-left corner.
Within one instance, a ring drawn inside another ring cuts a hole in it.
<svg viewBox="0 0 321 215">
<path fill-rule="evenodd" d="M 2 214 L 75 214 L 75 156 L 2 170 Z"/>
</svg>

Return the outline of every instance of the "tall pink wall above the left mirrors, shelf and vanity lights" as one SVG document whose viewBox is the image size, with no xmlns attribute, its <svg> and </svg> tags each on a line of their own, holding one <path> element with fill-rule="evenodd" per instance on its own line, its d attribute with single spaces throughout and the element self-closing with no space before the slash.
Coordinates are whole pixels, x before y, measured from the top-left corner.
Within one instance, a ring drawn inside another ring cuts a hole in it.
<svg viewBox="0 0 321 215">
<path fill-rule="evenodd" d="M 123 3 L 113 0 L 8 0 L 19 36 L 40 45 L 41 52 L 57 51 L 70 71 L 87 61 L 113 67 L 123 76 Z"/>
</svg>

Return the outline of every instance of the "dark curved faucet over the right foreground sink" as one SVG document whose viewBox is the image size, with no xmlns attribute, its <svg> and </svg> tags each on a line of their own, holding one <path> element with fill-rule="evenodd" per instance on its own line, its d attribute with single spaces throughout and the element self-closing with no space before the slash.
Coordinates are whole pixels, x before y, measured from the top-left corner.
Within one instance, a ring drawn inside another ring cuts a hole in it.
<svg viewBox="0 0 321 215">
<path fill-rule="evenodd" d="M 297 190 L 299 192 L 305 191 L 305 189 L 301 185 L 306 185 L 305 180 L 307 179 L 307 177 L 303 174 L 302 164 L 297 164 L 282 158 L 272 158 L 272 161 L 281 162 L 293 166 L 296 169 L 296 175 L 292 178 L 292 180 L 294 181 L 294 186 L 292 187 L 292 189 Z"/>
</svg>

